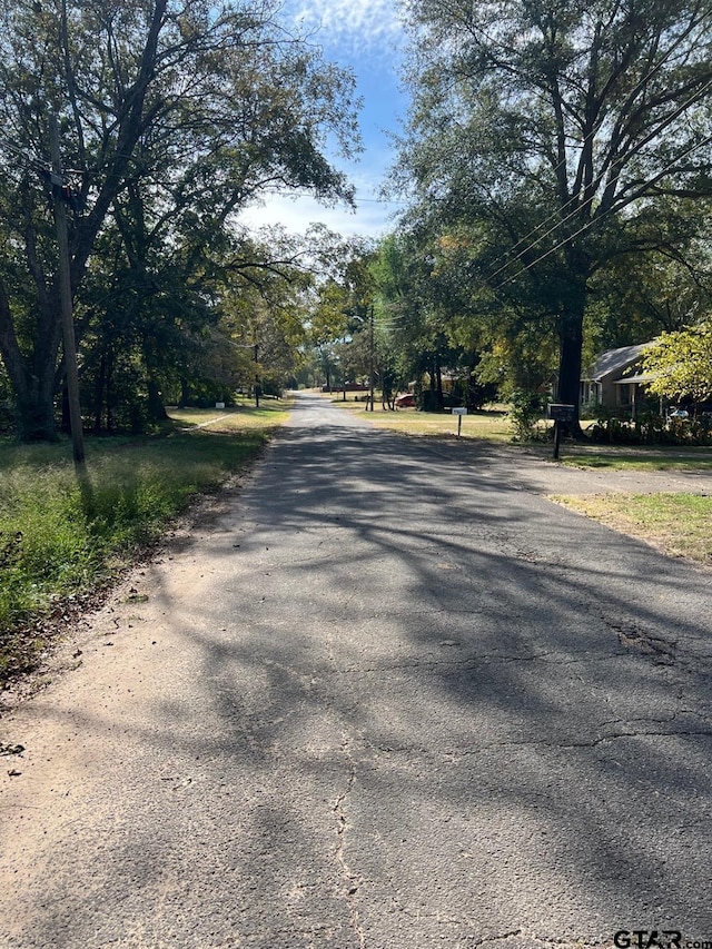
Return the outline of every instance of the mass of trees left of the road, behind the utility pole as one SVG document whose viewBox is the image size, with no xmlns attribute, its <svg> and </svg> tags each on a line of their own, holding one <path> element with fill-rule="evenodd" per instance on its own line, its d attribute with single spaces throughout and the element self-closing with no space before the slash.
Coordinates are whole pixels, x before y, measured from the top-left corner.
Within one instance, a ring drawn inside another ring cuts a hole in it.
<svg viewBox="0 0 712 949">
<path fill-rule="evenodd" d="M 65 377 L 57 201 L 97 431 L 140 428 L 169 392 L 229 389 L 226 339 L 244 363 L 294 348 L 276 314 L 294 306 L 304 248 L 266 244 L 237 215 L 285 187 L 350 200 L 324 144 L 358 141 L 352 77 L 277 13 L 261 0 L 3 3 L 0 353 L 22 439 L 55 436 Z"/>
</svg>

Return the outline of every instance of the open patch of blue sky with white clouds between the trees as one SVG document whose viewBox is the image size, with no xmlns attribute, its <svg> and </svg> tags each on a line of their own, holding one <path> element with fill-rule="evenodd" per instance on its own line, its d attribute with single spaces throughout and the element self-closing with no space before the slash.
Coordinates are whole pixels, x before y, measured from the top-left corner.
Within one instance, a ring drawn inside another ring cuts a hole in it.
<svg viewBox="0 0 712 949">
<path fill-rule="evenodd" d="M 404 34 L 394 0 L 285 0 L 287 26 L 318 30 L 315 41 L 327 61 L 353 70 L 356 95 L 364 100 L 359 127 L 364 151 L 356 162 L 329 156 L 356 188 L 356 212 L 324 207 L 308 197 L 274 196 L 264 207 L 249 208 L 241 220 L 250 227 L 281 225 L 304 233 L 310 223 L 325 224 L 344 236 L 378 237 L 392 229 L 398 205 L 384 202 L 379 188 L 394 152 L 388 131 L 405 119 L 407 98 L 399 88 Z"/>
</svg>

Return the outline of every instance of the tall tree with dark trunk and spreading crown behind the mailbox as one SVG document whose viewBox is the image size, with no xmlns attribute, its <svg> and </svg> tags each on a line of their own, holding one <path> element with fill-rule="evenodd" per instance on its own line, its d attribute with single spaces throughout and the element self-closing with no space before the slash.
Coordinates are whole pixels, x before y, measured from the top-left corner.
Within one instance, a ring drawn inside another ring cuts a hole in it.
<svg viewBox="0 0 712 949">
<path fill-rule="evenodd" d="M 578 404 L 590 281 L 712 194 L 711 0 L 408 0 L 400 175 L 443 229 L 485 223 L 477 278 L 530 298 Z M 504 253 L 503 253 L 504 251 Z"/>
</svg>

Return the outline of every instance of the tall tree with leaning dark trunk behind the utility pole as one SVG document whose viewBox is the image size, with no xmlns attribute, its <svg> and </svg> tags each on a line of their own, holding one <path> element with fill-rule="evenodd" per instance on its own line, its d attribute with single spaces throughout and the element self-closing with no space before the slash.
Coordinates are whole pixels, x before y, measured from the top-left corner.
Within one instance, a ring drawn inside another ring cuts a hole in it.
<svg viewBox="0 0 712 949">
<path fill-rule="evenodd" d="M 75 295 L 121 210 L 125 226 L 141 219 L 138 273 L 159 241 L 185 248 L 191 228 L 207 238 L 192 240 L 200 256 L 265 188 L 349 198 L 323 147 L 329 131 L 355 147 L 353 82 L 277 11 L 271 0 L 2 0 L 0 355 L 22 437 L 52 436 L 61 374 L 49 110 L 73 169 Z"/>
</svg>

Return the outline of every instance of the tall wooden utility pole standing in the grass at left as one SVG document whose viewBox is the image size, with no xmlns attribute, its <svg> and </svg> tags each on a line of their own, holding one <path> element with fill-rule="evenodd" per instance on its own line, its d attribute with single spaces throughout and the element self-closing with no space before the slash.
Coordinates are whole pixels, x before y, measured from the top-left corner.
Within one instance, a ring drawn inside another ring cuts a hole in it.
<svg viewBox="0 0 712 949">
<path fill-rule="evenodd" d="M 79 373 L 77 370 L 77 344 L 75 340 L 75 319 L 71 300 L 71 276 L 69 269 L 69 239 L 67 237 L 67 209 L 62 200 L 62 161 L 59 151 L 59 130 L 57 116 L 49 117 L 49 139 L 52 154 L 52 197 L 55 204 L 55 221 L 57 224 L 57 243 L 59 245 L 59 293 L 62 316 L 62 337 L 65 348 L 65 372 L 67 373 L 67 391 L 69 395 L 69 424 L 71 427 L 72 453 L 75 465 L 85 463 L 85 443 L 81 425 L 81 407 L 79 404 Z"/>
</svg>

